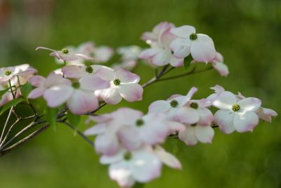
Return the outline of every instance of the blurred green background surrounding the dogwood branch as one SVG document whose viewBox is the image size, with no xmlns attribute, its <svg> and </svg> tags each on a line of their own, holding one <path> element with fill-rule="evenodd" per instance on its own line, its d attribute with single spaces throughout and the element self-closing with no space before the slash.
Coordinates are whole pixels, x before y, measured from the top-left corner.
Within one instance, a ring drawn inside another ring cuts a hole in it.
<svg viewBox="0 0 281 188">
<path fill-rule="evenodd" d="M 205 74 L 156 83 L 145 88 L 142 102 L 120 106 L 146 112 L 152 101 L 200 88 L 195 98 L 224 86 L 234 93 L 263 100 L 263 107 L 280 112 L 281 1 L 276 0 L 25 0 L 0 1 L 0 65 L 30 63 L 46 76 L 56 68 L 53 58 L 36 46 L 61 49 L 95 41 L 113 48 L 146 47 L 140 40 L 158 22 L 194 25 L 214 39 L 230 69 L 227 78 Z M 140 65 L 144 83 L 153 71 Z M 37 105 L 40 108 L 40 105 Z M 216 130 L 211 145 L 187 147 L 169 140 L 166 149 L 183 163 L 183 170 L 164 167 L 162 176 L 145 187 L 281 187 L 281 119 L 259 123 L 254 133 L 224 135 Z M 84 125 L 80 125 L 84 129 Z M 58 125 L 0 159 L 0 187 L 117 187 L 98 163 L 98 155 L 69 128 Z"/>
</svg>

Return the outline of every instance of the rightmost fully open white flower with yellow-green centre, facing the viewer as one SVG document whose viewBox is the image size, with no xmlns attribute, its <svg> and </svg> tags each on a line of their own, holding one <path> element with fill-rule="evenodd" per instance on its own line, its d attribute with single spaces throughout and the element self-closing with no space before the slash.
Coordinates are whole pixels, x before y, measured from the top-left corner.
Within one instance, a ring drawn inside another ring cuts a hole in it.
<svg viewBox="0 0 281 188">
<path fill-rule="evenodd" d="M 219 109 L 214 114 L 214 123 L 223 133 L 233 133 L 234 130 L 240 133 L 252 131 L 259 123 L 259 116 L 255 113 L 261 107 L 261 100 L 258 98 L 238 100 L 233 93 L 224 91 L 218 94 L 213 105 Z"/>
</svg>

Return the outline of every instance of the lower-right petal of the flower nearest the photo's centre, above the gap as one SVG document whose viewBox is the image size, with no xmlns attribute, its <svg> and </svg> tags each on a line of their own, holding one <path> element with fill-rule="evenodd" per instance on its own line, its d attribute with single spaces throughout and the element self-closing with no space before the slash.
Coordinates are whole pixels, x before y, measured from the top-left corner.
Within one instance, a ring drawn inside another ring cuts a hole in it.
<svg viewBox="0 0 281 188">
<path fill-rule="evenodd" d="M 134 102 L 143 100 L 143 87 L 138 83 L 121 83 L 118 91 L 126 101 Z"/>
</svg>

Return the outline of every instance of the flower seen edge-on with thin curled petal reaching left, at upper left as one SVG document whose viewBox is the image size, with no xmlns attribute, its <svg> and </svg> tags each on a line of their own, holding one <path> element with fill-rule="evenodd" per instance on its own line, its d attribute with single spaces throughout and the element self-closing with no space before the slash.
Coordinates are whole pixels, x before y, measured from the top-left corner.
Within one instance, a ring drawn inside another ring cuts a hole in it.
<svg viewBox="0 0 281 188">
<path fill-rule="evenodd" d="M 40 50 L 40 49 L 51 51 L 51 53 L 50 53 L 51 56 L 53 56 L 55 58 L 58 58 L 59 60 L 63 60 L 65 62 L 80 60 L 80 59 L 81 60 L 87 60 L 87 61 L 93 61 L 93 58 L 91 58 L 87 55 L 81 54 L 81 53 L 72 53 L 67 48 L 63 48 L 61 51 L 55 51 L 51 48 L 39 46 L 35 50 L 37 51 L 37 50 Z"/>
</svg>

